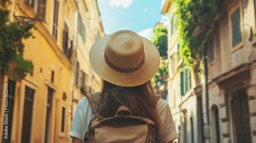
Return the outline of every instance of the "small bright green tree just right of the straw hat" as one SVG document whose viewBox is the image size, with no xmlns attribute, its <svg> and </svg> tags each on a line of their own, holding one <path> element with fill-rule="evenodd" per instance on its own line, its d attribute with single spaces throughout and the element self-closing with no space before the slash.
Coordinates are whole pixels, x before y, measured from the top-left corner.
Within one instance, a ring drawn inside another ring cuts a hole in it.
<svg viewBox="0 0 256 143">
<path fill-rule="evenodd" d="M 151 39 L 152 43 L 157 47 L 160 56 L 163 59 L 167 58 L 167 28 L 163 26 L 157 26 L 154 29 L 154 37 Z"/>
</svg>

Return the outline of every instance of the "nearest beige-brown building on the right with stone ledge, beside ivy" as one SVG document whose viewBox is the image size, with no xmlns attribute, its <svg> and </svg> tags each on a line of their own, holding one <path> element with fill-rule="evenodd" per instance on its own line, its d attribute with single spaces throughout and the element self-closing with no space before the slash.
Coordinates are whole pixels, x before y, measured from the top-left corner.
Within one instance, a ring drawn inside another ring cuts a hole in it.
<svg viewBox="0 0 256 143">
<path fill-rule="evenodd" d="M 222 7 L 219 27 L 213 35 L 215 60 L 212 63 L 208 61 L 210 140 L 215 142 L 219 136 L 221 142 L 239 142 L 238 131 L 246 132 L 238 129 L 235 114 L 239 110 L 234 106 L 239 105 L 243 107 L 241 125 L 248 129 L 247 138 L 255 142 L 255 1 L 225 1 Z M 231 15 L 237 9 L 240 9 L 242 41 L 233 46 Z M 240 97 L 242 103 L 236 102 L 236 97 Z M 216 134 L 216 109 L 219 112 L 220 134 Z"/>
</svg>

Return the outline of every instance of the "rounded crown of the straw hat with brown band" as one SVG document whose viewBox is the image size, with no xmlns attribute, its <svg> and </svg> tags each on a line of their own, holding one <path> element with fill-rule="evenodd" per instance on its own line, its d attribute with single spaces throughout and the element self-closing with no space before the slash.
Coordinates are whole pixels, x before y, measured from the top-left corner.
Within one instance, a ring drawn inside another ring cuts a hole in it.
<svg viewBox="0 0 256 143">
<path fill-rule="evenodd" d="M 113 65 L 119 68 L 134 68 L 144 59 L 143 41 L 133 31 L 115 32 L 106 43 L 105 55 Z"/>
</svg>

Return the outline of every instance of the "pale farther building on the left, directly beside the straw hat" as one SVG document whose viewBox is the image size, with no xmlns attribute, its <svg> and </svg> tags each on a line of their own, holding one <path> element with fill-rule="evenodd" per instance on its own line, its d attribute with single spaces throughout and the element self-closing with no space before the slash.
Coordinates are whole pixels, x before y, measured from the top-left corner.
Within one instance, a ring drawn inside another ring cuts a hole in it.
<svg viewBox="0 0 256 143">
<path fill-rule="evenodd" d="M 94 73 L 90 65 L 89 51 L 92 44 L 104 36 L 97 1 L 76 1 L 76 4 L 78 9 L 75 12 L 77 23 L 72 60 L 74 69 L 72 73 L 72 118 L 70 123 L 73 121 L 77 104 L 84 97 L 84 94 L 100 91 L 101 79 Z"/>
</svg>

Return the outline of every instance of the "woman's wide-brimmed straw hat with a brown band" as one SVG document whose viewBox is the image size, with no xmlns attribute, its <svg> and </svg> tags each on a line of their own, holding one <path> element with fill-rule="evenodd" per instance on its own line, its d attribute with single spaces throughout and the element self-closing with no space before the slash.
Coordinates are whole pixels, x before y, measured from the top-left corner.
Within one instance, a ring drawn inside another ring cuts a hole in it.
<svg viewBox="0 0 256 143">
<path fill-rule="evenodd" d="M 151 80 L 160 64 L 156 46 L 130 30 L 120 30 L 98 39 L 91 47 L 89 59 L 99 77 L 125 87 Z"/>
</svg>

